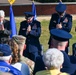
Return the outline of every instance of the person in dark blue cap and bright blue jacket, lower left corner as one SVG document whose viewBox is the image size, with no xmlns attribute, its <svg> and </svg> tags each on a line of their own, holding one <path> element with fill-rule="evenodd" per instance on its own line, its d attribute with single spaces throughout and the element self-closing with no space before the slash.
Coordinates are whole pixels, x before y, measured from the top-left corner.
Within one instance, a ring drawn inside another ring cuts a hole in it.
<svg viewBox="0 0 76 75">
<path fill-rule="evenodd" d="M 13 75 L 22 75 L 21 72 L 10 65 L 12 61 L 12 51 L 7 44 L 0 44 L 0 71 L 10 72 Z"/>
</svg>

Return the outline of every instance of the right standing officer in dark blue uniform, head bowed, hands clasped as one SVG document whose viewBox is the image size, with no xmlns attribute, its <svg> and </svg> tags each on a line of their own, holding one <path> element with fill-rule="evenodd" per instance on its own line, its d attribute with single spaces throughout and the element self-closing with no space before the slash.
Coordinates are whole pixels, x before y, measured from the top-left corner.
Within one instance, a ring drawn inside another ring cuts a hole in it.
<svg viewBox="0 0 76 75">
<path fill-rule="evenodd" d="M 56 5 L 56 13 L 52 14 L 52 17 L 50 19 L 49 23 L 49 31 L 51 29 L 62 29 L 67 31 L 68 33 L 72 29 L 72 16 L 68 13 L 66 13 L 67 6 L 60 2 L 59 4 Z M 51 40 L 51 36 L 49 41 Z M 50 45 L 51 42 L 48 44 Z M 50 47 L 50 46 L 49 46 Z M 69 51 L 69 40 L 68 44 L 66 46 L 66 53 L 68 54 Z"/>
</svg>

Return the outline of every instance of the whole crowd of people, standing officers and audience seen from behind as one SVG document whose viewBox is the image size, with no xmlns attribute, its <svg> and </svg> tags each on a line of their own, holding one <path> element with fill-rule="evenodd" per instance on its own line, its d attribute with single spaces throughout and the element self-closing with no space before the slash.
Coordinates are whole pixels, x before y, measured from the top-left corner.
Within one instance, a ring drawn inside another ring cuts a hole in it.
<svg viewBox="0 0 76 75">
<path fill-rule="evenodd" d="M 0 10 L 0 74 L 1 75 L 76 75 L 76 57 L 68 55 L 72 38 L 72 15 L 60 2 L 49 21 L 48 49 L 42 55 L 39 41 L 41 23 L 34 13 L 25 12 L 17 35 L 10 38 L 10 21 Z"/>
</svg>

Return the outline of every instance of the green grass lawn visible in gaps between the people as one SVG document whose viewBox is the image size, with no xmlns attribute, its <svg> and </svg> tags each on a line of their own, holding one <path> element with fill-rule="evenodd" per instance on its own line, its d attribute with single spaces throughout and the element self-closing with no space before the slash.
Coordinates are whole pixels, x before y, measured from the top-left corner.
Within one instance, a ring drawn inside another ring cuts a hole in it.
<svg viewBox="0 0 76 75">
<path fill-rule="evenodd" d="M 16 21 L 17 30 L 19 30 L 21 21 L 22 20 L 20 20 L 20 19 L 18 19 Z M 48 30 L 48 25 L 49 25 L 49 20 L 41 21 L 42 32 L 41 32 L 41 37 L 40 37 L 40 43 L 43 45 L 44 51 L 46 51 L 48 49 L 48 40 L 49 40 L 49 35 L 50 35 L 49 30 Z M 76 27 L 76 20 L 73 21 L 73 26 L 72 26 L 72 30 L 71 30 L 71 34 L 73 35 L 73 37 L 70 40 L 70 54 L 72 54 L 72 44 L 76 42 L 75 27 Z"/>
</svg>

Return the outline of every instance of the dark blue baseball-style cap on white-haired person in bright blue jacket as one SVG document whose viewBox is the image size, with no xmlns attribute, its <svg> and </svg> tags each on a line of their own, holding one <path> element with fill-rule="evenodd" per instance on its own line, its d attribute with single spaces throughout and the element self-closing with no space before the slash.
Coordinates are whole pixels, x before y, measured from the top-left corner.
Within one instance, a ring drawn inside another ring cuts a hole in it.
<svg viewBox="0 0 76 75">
<path fill-rule="evenodd" d="M 7 44 L 0 44 L 0 56 L 9 56 L 11 55 L 12 50 Z"/>
</svg>

